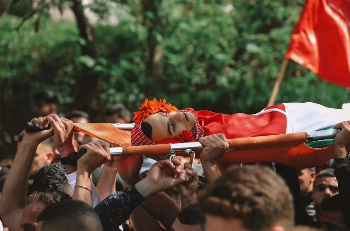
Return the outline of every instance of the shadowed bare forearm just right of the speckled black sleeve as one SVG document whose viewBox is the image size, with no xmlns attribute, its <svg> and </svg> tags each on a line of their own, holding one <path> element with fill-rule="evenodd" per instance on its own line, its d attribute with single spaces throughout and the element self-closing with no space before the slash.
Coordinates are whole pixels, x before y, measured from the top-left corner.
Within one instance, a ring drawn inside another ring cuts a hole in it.
<svg viewBox="0 0 350 231">
<path fill-rule="evenodd" d="M 159 192 L 142 203 L 146 210 L 169 229 L 181 209 L 167 194 Z"/>
</svg>

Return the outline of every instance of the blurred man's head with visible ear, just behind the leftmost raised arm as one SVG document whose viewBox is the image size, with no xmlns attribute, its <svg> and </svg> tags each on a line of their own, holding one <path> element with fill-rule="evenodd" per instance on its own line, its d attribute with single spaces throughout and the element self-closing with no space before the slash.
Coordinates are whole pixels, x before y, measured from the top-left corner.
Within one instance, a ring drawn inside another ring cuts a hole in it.
<svg viewBox="0 0 350 231">
<path fill-rule="evenodd" d="M 33 163 L 31 164 L 29 171 L 29 179 L 33 179 L 39 169 L 47 164 L 51 164 L 54 159 L 54 153 L 52 151 L 53 143 L 52 139 L 47 139 L 41 142 L 35 151 Z"/>
</svg>

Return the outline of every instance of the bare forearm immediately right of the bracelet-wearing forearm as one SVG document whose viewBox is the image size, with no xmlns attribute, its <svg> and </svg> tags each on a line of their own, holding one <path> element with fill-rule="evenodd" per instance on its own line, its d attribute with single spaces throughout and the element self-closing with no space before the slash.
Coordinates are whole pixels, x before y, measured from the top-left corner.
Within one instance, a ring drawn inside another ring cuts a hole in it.
<svg viewBox="0 0 350 231">
<path fill-rule="evenodd" d="M 116 192 L 116 181 L 117 170 L 112 170 L 104 167 L 96 186 L 102 200 Z"/>
</svg>

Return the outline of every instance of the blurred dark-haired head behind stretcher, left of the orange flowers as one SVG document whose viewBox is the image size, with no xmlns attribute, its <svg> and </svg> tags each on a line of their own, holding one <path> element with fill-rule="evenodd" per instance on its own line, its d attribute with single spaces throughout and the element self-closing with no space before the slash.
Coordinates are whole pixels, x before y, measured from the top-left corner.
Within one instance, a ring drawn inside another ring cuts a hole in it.
<svg viewBox="0 0 350 231">
<path fill-rule="evenodd" d="M 105 121 L 111 124 L 127 124 L 131 122 L 131 113 L 124 104 L 114 104 L 107 107 L 105 111 Z"/>
</svg>

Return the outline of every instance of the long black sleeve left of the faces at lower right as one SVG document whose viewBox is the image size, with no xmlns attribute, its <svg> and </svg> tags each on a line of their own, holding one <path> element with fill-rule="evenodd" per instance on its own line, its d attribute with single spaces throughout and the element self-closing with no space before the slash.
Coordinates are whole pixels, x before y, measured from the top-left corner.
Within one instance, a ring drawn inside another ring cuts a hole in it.
<svg viewBox="0 0 350 231">
<path fill-rule="evenodd" d="M 295 168 L 276 164 L 276 172 L 286 181 L 293 195 L 295 225 L 307 225 L 317 227 L 318 224 L 310 217 L 302 201 L 298 176 Z"/>
</svg>

